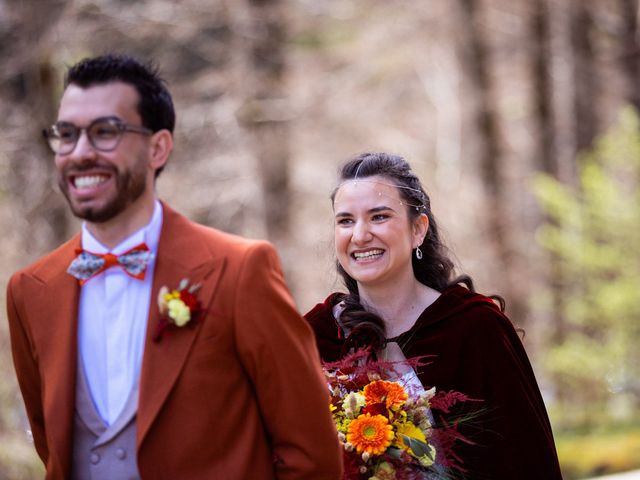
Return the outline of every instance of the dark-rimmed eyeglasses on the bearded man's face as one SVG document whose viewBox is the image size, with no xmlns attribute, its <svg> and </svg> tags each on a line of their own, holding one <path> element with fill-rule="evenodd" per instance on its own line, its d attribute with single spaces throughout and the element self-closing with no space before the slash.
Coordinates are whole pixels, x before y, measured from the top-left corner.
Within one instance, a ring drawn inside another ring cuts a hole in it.
<svg viewBox="0 0 640 480">
<path fill-rule="evenodd" d="M 89 143 L 96 150 L 111 152 L 120 143 L 124 132 L 151 135 L 153 131 L 148 128 L 124 123 L 118 117 L 96 118 L 88 127 L 80 128 L 69 122 L 58 122 L 42 131 L 53 153 L 67 155 L 76 148 L 78 139 L 85 131 Z"/>
</svg>

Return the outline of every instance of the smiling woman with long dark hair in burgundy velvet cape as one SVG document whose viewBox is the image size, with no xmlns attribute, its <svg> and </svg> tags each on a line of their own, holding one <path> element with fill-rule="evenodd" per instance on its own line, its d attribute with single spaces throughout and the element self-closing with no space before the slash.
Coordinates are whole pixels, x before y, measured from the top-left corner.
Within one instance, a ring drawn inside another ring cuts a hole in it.
<svg viewBox="0 0 640 480">
<path fill-rule="evenodd" d="M 331 199 L 337 269 L 349 293 L 334 293 L 305 315 L 322 359 L 365 346 L 380 359 L 427 355 L 410 376 L 425 388 L 482 400 L 482 413 L 460 427 L 471 442 L 456 450 L 466 478 L 562 478 L 520 338 L 468 277 L 453 280 L 429 197 L 407 162 L 357 156 L 342 168 Z"/>
</svg>

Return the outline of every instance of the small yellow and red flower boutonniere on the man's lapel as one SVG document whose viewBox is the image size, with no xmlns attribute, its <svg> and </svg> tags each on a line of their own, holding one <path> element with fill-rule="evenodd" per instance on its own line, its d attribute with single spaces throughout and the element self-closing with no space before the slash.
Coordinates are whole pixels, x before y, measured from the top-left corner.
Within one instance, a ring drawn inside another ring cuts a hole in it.
<svg viewBox="0 0 640 480">
<path fill-rule="evenodd" d="M 195 293 L 200 288 L 199 284 L 189 285 L 189 280 L 184 278 L 178 288 L 169 290 L 163 286 L 158 292 L 158 308 L 160 320 L 153 340 L 159 342 L 165 331 L 170 327 L 184 327 L 196 320 L 201 312 L 200 300 Z"/>
</svg>

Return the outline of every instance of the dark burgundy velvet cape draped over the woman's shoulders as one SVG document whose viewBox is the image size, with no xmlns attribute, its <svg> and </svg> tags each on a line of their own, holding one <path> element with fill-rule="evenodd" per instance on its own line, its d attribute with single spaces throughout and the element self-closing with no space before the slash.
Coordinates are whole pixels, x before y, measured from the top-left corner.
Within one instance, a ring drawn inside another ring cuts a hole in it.
<svg viewBox="0 0 640 480">
<path fill-rule="evenodd" d="M 323 361 L 340 358 L 344 334 L 333 317 L 335 294 L 305 318 Z M 513 325 L 489 298 L 453 286 L 420 315 L 398 344 L 407 358 L 428 355 L 418 369 L 425 386 L 455 390 L 482 402 L 460 427 L 465 478 L 561 479 L 551 425 L 527 354 Z"/>
</svg>

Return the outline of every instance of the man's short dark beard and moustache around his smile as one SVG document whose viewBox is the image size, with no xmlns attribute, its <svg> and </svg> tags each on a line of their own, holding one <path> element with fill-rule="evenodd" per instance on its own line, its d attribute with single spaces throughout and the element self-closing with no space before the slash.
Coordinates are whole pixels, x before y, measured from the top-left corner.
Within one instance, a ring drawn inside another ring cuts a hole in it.
<svg viewBox="0 0 640 480">
<path fill-rule="evenodd" d="M 89 169 L 94 165 L 83 165 Z M 58 176 L 58 185 L 67 199 L 67 203 L 73 214 L 91 223 L 103 223 L 111 220 L 122 213 L 128 205 L 135 202 L 146 191 L 146 168 L 145 162 L 139 159 L 133 169 L 118 171 L 112 168 L 113 178 L 116 183 L 116 193 L 107 203 L 99 207 L 76 205 L 71 200 L 69 186 L 66 182 L 64 172 Z M 82 169 L 76 169 L 82 171 Z"/>
</svg>

